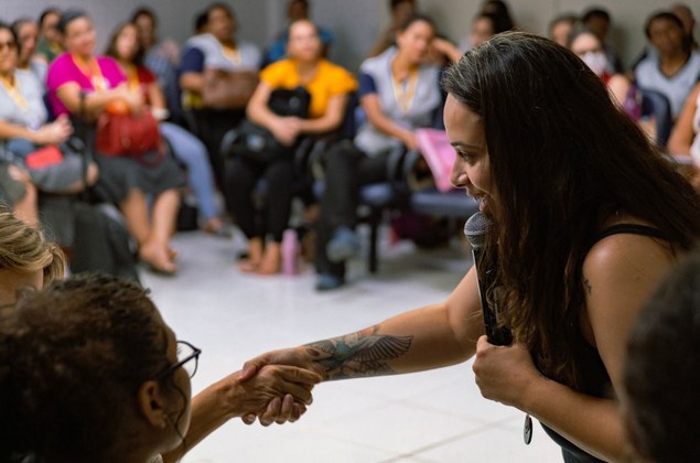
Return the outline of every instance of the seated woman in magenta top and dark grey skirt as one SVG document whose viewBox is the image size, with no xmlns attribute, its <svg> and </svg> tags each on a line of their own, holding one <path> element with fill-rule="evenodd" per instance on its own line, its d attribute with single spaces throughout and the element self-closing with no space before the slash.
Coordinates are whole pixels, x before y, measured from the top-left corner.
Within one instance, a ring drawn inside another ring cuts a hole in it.
<svg viewBox="0 0 700 463">
<path fill-rule="evenodd" d="M 66 53 L 51 64 L 47 77 L 49 101 L 56 116 L 95 121 L 104 114 L 139 115 L 144 110 L 143 97 L 129 89 L 119 64 L 95 55 L 97 34 L 87 13 L 68 10 L 58 26 Z M 139 247 L 139 258 L 152 270 L 172 274 L 177 270 L 176 252 L 169 244 L 180 204 L 177 189 L 184 177 L 171 157 L 155 151 L 144 157 L 148 159 L 137 160 L 130 153 L 97 152 L 100 175 L 95 192 L 119 206 Z M 150 214 L 147 196 L 153 200 Z"/>
</svg>

